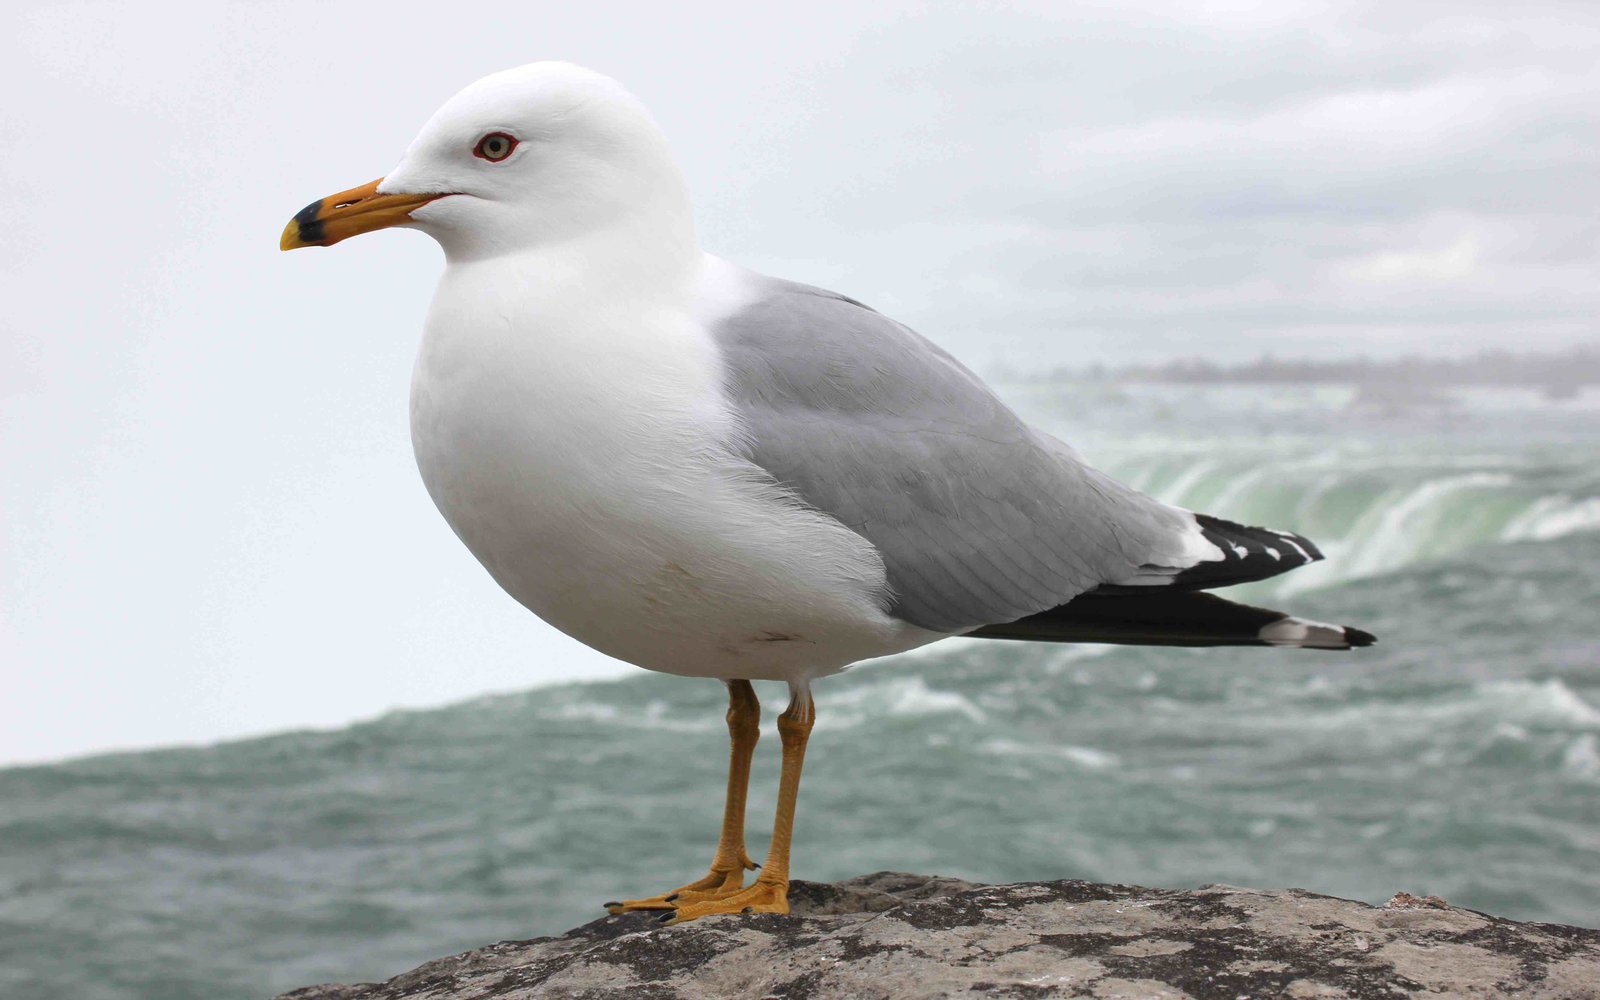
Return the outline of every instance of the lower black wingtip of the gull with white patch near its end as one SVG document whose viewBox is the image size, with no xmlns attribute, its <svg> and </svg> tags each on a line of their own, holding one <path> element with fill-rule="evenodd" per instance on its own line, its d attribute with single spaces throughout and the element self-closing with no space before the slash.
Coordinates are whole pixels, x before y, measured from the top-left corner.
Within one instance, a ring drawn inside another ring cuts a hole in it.
<svg viewBox="0 0 1600 1000">
<path fill-rule="evenodd" d="M 1370 646 L 1371 632 L 1326 626 L 1224 600 L 1198 590 L 1120 590 L 1082 594 L 1074 600 L 1027 618 L 984 626 L 976 638 L 1030 642 L 1104 642 L 1139 646 L 1298 646 L 1349 650 Z"/>
</svg>

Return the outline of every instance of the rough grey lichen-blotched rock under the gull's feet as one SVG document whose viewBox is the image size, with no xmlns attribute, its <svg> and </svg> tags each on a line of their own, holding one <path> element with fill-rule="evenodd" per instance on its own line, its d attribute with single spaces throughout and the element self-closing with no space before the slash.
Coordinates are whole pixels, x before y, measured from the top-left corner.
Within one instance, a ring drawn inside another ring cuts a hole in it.
<svg viewBox="0 0 1600 1000">
<path fill-rule="evenodd" d="M 878 872 L 795 882 L 792 914 L 661 926 L 602 917 L 387 982 L 278 1000 L 1098 997 L 1600 1000 L 1600 931 L 1518 923 L 1397 894 L 973 885 Z"/>
</svg>

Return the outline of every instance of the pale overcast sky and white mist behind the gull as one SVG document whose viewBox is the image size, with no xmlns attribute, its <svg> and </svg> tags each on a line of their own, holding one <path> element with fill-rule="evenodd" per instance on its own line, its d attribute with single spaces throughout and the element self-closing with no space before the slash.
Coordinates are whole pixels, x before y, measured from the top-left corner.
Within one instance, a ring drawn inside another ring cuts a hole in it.
<svg viewBox="0 0 1600 1000">
<path fill-rule="evenodd" d="M 702 243 L 979 370 L 1594 342 L 1594 3 L 8 3 L 0 763 L 619 675 L 432 509 L 416 232 L 280 254 L 570 59 Z"/>
</svg>

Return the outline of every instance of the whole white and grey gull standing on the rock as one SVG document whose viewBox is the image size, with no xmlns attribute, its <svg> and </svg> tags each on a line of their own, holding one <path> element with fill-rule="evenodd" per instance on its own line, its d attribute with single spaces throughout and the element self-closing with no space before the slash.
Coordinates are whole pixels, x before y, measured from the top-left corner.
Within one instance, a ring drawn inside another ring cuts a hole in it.
<svg viewBox="0 0 1600 1000">
<path fill-rule="evenodd" d="M 789 912 L 811 683 L 858 661 L 954 635 L 1374 642 L 1206 594 L 1322 558 L 1306 538 L 1144 496 L 890 317 L 702 251 L 666 136 L 610 77 L 534 62 L 472 83 L 392 171 L 307 205 L 280 246 L 386 227 L 446 259 L 411 381 L 440 514 L 562 632 L 728 688 L 710 870 L 613 914 Z M 752 680 L 789 686 L 760 866 Z"/>
</svg>

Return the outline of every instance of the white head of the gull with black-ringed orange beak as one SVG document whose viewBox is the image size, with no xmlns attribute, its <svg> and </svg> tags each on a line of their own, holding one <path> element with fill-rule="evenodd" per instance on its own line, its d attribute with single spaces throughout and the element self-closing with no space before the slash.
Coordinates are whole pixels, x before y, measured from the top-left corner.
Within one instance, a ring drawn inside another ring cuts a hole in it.
<svg viewBox="0 0 1600 1000">
<path fill-rule="evenodd" d="M 680 216 L 682 174 L 645 107 L 610 77 L 533 62 L 446 101 L 389 174 L 312 202 L 278 245 L 406 227 L 475 259 Z"/>
</svg>

